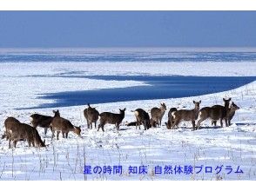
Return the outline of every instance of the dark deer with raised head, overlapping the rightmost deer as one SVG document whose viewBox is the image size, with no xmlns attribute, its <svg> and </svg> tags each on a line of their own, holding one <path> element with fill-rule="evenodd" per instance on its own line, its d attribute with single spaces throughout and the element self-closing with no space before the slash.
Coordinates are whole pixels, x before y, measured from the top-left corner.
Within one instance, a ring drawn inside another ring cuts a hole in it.
<svg viewBox="0 0 256 191">
<path fill-rule="evenodd" d="M 197 124 L 197 128 L 200 128 L 200 123 L 204 122 L 206 119 L 210 118 L 212 120 L 212 124 L 216 126 L 217 121 L 219 120 L 221 128 L 223 127 L 223 120 L 227 124 L 226 114 L 229 109 L 229 102 L 231 101 L 231 98 L 225 99 L 223 98 L 224 106 L 222 105 L 213 105 L 212 107 L 205 107 L 200 109 L 199 111 L 199 121 Z"/>
</svg>

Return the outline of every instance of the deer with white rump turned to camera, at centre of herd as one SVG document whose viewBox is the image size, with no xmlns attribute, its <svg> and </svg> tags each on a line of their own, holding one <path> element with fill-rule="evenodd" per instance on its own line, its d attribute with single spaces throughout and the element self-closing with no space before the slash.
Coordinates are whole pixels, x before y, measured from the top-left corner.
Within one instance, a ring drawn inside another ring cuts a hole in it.
<svg viewBox="0 0 256 191">
<path fill-rule="evenodd" d="M 144 109 L 136 109 L 134 111 L 134 115 L 136 117 L 136 129 L 137 127 L 140 129 L 140 124 L 144 124 L 144 128 L 149 129 L 151 128 L 151 121 L 150 121 L 150 116 L 148 115 L 147 112 L 145 112 Z"/>
</svg>

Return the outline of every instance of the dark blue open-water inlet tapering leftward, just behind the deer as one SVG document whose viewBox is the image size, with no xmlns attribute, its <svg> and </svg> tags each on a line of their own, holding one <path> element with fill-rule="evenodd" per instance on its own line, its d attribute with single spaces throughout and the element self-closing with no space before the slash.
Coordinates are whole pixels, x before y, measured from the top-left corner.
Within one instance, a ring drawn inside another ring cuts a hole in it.
<svg viewBox="0 0 256 191">
<path fill-rule="evenodd" d="M 82 76 L 79 76 L 82 77 Z M 151 86 L 138 86 L 118 89 L 99 89 L 84 91 L 66 91 L 40 95 L 38 98 L 56 100 L 55 103 L 39 105 L 36 108 L 57 108 L 104 102 L 123 102 L 177 98 L 193 95 L 205 95 L 235 89 L 253 82 L 256 77 L 208 77 L 208 76 L 84 76 L 91 79 L 135 80 Z M 220 98 L 219 98 L 220 99 Z"/>
</svg>

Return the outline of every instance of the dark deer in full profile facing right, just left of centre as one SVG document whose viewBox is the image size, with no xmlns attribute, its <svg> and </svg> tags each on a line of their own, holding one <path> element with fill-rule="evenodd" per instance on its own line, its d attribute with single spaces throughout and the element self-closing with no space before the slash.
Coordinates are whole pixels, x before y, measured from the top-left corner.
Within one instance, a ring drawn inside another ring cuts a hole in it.
<svg viewBox="0 0 256 191">
<path fill-rule="evenodd" d="M 104 131 L 104 125 L 109 123 L 109 124 L 115 124 L 117 129 L 119 130 L 119 125 L 125 118 L 125 110 L 126 109 L 119 109 L 120 113 L 119 114 L 113 114 L 111 112 L 103 112 L 101 113 L 100 119 L 99 119 L 99 124 L 98 124 L 98 130 L 99 128 L 102 128 L 102 131 Z"/>
</svg>

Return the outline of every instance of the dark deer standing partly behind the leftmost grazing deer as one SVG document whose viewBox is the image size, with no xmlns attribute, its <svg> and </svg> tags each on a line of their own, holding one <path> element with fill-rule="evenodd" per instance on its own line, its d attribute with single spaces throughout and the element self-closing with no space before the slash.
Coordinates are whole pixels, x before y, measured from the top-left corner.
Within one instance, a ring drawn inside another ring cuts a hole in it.
<svg viewBox="0 0 256 191">
<path fill-rule="evenodd" d="M 40 115 L 40 114 L 30 115 L 30 122 L 32 123 L 32 126 L 34 128 L 37 128 L 38 126 L 41 128 L 44 128 L 44 135 L 47 134 L 47 130 L 48 128 L 50 128 L 51 120 L 52 120 L 52 116 Z"/>
</svg>

